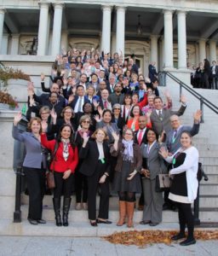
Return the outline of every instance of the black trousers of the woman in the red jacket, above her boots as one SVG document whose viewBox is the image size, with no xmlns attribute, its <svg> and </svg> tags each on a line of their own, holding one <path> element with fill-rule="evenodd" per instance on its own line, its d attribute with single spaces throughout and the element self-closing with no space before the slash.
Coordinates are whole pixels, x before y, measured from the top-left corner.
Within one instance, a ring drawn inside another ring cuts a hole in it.
<svg viewBox="0 0 218 256">
<path fill-rule="evenodd" d="M 71 174 L 66 179 L 63 179 L 63 176 L 64 172 L 54 172 L 54 198 L 60 198 L 62 193 L 65 198 L 71 197 L 73 186 L 73 174 Z"/>
</svg>

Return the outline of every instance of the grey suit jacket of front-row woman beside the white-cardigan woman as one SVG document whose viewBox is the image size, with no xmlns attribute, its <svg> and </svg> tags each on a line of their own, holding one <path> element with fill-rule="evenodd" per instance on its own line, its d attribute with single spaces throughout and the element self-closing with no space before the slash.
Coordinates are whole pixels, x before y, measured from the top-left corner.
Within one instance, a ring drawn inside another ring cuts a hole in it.
<svg viewBox="0 0 218 256">
<path fill-rule="evenodd" d="M 152 145 L 152 148 L 147 153 L 147 144 L 141 144 L 141 154 L 143 160 L 146 160 L 147 169 L 150 172 L 150 179 L 154 179 L 159 173 L 166 173 L 167 169 L 164 165 L 164 160 L 159 154 L 159 144 L 158 142 Z"/>
</svg>

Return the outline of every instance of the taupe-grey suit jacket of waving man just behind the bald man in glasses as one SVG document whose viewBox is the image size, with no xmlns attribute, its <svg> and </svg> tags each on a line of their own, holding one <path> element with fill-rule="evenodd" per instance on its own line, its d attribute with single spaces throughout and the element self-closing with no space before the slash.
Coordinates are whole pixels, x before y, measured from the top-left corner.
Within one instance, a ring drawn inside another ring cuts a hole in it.
<svg viewBox="0 0 218 256">
<path fill-rule="evenodd" d="M 183 105 L 181 105 L 181 108 L 178 111 L 162 109 L 163 120 L 161 120 L 158 117 L 158 113 L 156 112 L 156 109 L 154 109 L 150 116 L 150 119 L 152 122 L 152 128 L 158 133 L 158 135 L 161 135 L 162 131 L 165 131 L 167 134 L 171 129 L 171 124 L 169 120 L 170 116 L 173 114 L 180 116 L 185 112 L 185 110 L 186 110 L 186 107 Z"/>
</svg>

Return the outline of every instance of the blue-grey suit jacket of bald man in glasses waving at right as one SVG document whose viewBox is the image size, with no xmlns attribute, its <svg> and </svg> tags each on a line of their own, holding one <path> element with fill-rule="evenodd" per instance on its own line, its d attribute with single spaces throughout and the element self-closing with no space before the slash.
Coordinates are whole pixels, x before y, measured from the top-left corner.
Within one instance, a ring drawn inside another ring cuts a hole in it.
<svg viewBox="0 0 218 256">
<path fill-rule="evenodd" d="M 175 154 L 175 151 L 181 148 L 181 133 L 182 131 L 189 131 L 192 136 L 198 134 L 200 124 L 193 124 L 193 126 L 181 125 L 180 130 L 177 132 L 177 136 L 175 137 L 175 141 L 173 142 L 174 130 L 170 130 L 167 133 L 166 137 L 166 147 L 169 152 Z"/>
</svg>

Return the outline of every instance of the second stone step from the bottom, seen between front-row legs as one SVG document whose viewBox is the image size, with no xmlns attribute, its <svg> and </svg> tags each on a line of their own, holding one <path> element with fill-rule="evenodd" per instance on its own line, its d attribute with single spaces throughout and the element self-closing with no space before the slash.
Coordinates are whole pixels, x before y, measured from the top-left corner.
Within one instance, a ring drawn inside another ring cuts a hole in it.
<svg viewBox="0 0 218 256">
<path fill-rule="evenodd" d="M 27 209 L 28 206 L 22 206 L 21 207 L 21 212 L 22 212 L 22 219 L 27 218 Z M 218 213 L 218 208 L 200 208 L 199 211 L 199 218 L 203 222 L 216 222 L 217 221 L 217 213 Z M 139 223 L 142 219 L 142 211 L 138 211 L 135 209 L 134 213 L 134 221 L 135 223 Z M 116 210 L 110 210 L 109 211 L 109 219 L 112 220 L 112 222 L 118 221 L 118 208 Z M 53 207 L 43 207 L 43 218 L 46 219 L 47 221 L 54 221 L 54 209 Z M 72 209 L 69 212 L 69 221 L 72 223 L 77 223 L 77 222 L 87 222 L 88 219 L 88 212 L 87 211 L 76 211 Z M 172 211 L 164 211 L 163 212 L 163 223 L 174 223 L 178 221 L 178 212 L 172 212 Z"/>
</svg>

